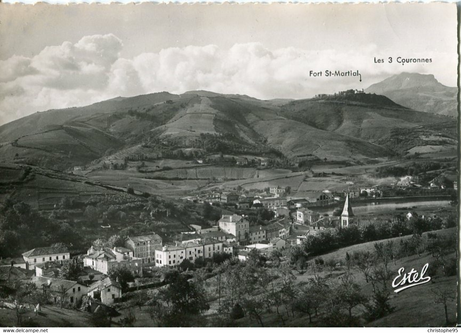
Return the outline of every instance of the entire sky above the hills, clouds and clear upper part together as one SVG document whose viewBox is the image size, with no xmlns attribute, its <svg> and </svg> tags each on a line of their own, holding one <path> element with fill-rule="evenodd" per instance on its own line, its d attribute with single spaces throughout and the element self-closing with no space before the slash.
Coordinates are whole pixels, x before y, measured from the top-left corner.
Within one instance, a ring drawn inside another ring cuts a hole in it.
<svg viewBox="0 0 461 333">
<path fill-rule="evenodd" d="M 453 3 L 0 3 L 0 125 L 158 91 L 298 99 L 403 71 L 456 86 L 456 29 Z M 358 70 L 362 81 L 325 70 Z"/>
</svg>

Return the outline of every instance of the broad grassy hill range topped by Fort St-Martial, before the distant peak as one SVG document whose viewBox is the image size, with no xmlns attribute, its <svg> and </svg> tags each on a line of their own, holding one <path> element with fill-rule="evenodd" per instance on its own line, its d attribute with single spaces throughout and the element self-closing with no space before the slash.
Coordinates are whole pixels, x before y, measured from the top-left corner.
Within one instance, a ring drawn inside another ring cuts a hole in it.
<svg viewBox="0 0 461 333">
<path fill-rule="evenodd" d="M 162 92 L 35 113 L 2 125 L 0 153 L 6 162 L 61 170 L 116 153 L 124 159 L 140 146 L 151 155 L 198 148 L 199 155 L 224 151 L 357 161 L 394 154 L 384 138 L 399 129 L 444 121 L 374 94 L 261 101 L 204 91 Z"/>
</svg>

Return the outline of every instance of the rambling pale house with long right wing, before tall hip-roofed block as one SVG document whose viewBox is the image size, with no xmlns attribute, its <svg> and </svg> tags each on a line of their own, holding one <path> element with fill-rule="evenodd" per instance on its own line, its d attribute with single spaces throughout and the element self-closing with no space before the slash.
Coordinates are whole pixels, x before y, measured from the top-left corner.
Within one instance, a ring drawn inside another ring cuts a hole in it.
<svg viewBox="0 0 461 333">
<path fill-rule="evenodd" d="M 83 257 L 83 266 L 90 267 L 107 275 L 111 268 L 126 267 L 131 273 L 142 276 L 142 260 L 126 256 L 114 249 L 95 250 L 93 246 Z"/>
</svg>

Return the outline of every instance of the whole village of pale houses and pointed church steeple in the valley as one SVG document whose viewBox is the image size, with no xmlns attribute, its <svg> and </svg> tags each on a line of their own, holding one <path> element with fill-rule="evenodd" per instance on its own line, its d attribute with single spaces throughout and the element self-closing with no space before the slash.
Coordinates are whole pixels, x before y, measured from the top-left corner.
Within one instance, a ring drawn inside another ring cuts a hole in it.
<svg viewBox="0 0 461 333">
<path fill-rule="evenodd" d="M 355 216 L 353 202 L 383 200 L 383 190 L 380 186 L 354 187 L 354 181 L 348 180 L 347 189 L 342 191 L 311 192 L 304 197 L 291 197 L 290 188 L 281 186 L 253 194 L 212 191 L 183 197 L 184 202 L 218 205 L 233 213 L 223 214 L 210 227 L 191 224 L 190 231 L 165 240 L 154 232 L 123 239 L 114 234 L 115 241 L 94 242 L 86 254 L 71 256 L 65 244 L 50 244 L 30 249 L 18 257 L 1 258 L 0 286 L 3 294 L 8 295 L 8 290 L 14 292 L 21 284 L 35 285 L 36 290 L 43 293 L 33 304 L 36 313 L 40 312 L 41 302 L 70 309 L 83 306 L 90 313 L 117 313 L 112 307 L 123 301 L 124 293 L 132 291 L 133 286 L 142 285 L 143 275 L 152 276 L 153 269 L 187 272 L 207 261 L 236 258 L 246 262 L 255 251 L 258 256 L 272 258 L 275 253 L 277 256 L 289 253 L 290 247 L 300 246 L 308 237 L 326 229 L 369 226 L 369 218 Z M 443 189 L 443 186 L 432 181 L 427 188 Z M 456 189 L 456 182 L 452 186 Z M 395 188 L 401 190 L 420 187 L 418 178 L 411 176 L 402 177 L 395 184 Z M 332 207 L 336 209 L 331 215 L 319 213 Z M 238 214 L 255 209 L 272 217 L 255 224 L 248 215 Z M 418 213 L 408 210 L 404 219 L 410 220 L 413 215 Z M 422 218 L 434 220 L 437 215 Z M 27 302 L 11 302 L 8 298 L 1 302 L 16 310 L 18 322 L 23 313 L 31 310 Z"/>
</svg>

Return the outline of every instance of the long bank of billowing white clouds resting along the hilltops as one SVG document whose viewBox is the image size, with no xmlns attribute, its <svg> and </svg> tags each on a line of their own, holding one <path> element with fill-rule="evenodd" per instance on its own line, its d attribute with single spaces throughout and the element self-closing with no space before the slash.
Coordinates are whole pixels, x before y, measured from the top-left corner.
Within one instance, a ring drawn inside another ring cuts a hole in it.
<svg viewBox="0 0 461 333">
<path fill-rule="evenodd" d="M 85 36 L 74 44 L 46 47 L 32 58 L 12 56 L 0 61 L 0 124 L 50 108 L 165 90 L 180 94 L 204 89 L 261 99 L 307 98 L 366 88 L 402 71 L 439 78 L 437 73 L 455 68 L 457 61 L 456 54 L 437 54 L 437 61 L 431 64 L 376 64 L 375 57 L 387 59 L 389 52 L 379 52 L 373 44 L 345 51 L 270 50 L 260 43 L 235 44 L 229 49 L 187 46 L 132 59 L 120 57 L 122 48 L 121 40 L 112 34 Z M 363 81 L 325 77 L 325 70 L 359 70 Z M 322 77 L 312 77 L 310 71 L 322 71 Z"/>
</svg>

